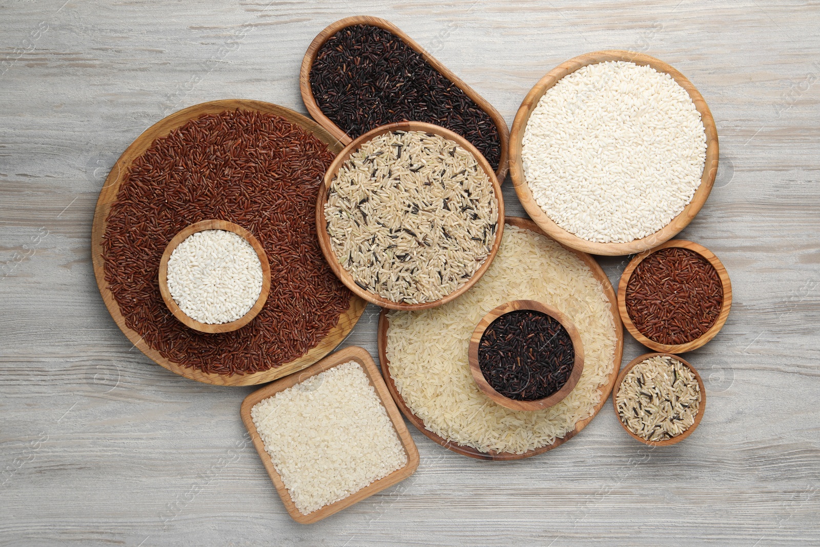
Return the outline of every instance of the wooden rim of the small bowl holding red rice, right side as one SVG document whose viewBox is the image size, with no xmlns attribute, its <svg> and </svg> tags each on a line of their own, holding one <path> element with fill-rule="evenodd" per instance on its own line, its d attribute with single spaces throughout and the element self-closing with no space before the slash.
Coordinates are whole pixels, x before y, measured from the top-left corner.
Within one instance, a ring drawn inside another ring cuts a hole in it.
<svg viewBox="0 0 820 547">
<path fill-rule="evenodd" d="M 632 322 L 632 318 L 629 317 L 629 312 L 626 311 L 626 286 L 629 285 L 629 280 L 631 279 L 635 268 L 638 267 L 640 262 L 643 262 L 645 258 L 648 258 L 653 253 L 669 247 L 687 248 L 705 258 L 710 264 L 712 264 L 715 271 L 717 271 L 717 276 L 721 280 L 723 289 L 723 302 L 714 324 L 709 328 L 709 330 L 704 332 L 704 334 L 700 335 L 698 338 L 695 338 L 695 340 L 686 342 L 685 344 L 661 344 L 649 339 L 642 332 L 640 332 L 640 330 L 638 330 L 635 323 Z M 626 265 L 626 268 L 621 275 L 621 280 L 618 282 L 617 286 L 617 309 L 621 316 L 621 321 L 624 326 L 626 326 L 626 330 L 629 331 L 629 334 L 631 334 L 635 340 L 638 340 L 641 344 L 644 344 L 647 348 L 669 354 L 686 353 L 687 351 L 698 349 L 709 340 L 712 340 L 723 328 L 723 325 L 726 324 L 726 320 L 729 317 L 729 311 L 731 310 L 731 280 L 729 279 L 729 273 L 727 272 L 726 267 L 723 266 L 723 262 L 721 262 L 712 251 L 705 248 L 703 245 L 696 244 L 692 241 L 687 241 L 686 239 L 671 239 L 666 243 L 660 244 L 657 247 L 650 248 L 649 250 L 636 255 L 635 258 L 632 258 L 629 264 Z"/>
</svg>

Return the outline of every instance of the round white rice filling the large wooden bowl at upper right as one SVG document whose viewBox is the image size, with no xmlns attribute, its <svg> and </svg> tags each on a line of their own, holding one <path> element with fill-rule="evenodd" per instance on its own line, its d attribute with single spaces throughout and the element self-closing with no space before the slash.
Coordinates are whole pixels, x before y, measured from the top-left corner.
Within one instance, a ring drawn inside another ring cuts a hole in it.
<svg viewBox="0 0 820 547">
<path fill-rule="evenodd" d="M 692 200 L 706 160 L 695 103 L 665 72 L 583 66 L 540 98 L 522 139 L 527 185 L 558 226 L 601 243 L 640 239 Z"/>
</svg>

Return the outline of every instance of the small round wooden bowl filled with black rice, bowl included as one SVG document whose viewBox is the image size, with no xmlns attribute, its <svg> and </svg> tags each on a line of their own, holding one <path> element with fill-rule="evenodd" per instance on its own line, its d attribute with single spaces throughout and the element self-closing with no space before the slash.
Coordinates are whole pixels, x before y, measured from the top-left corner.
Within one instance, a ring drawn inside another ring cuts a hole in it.
<svg viewBox="0 0 820 547">
<path fill-rule="evenodd" d="M 479 321 L 468 349 L 478 388 L 495 403 L 533 411 L 560 403 L 584 370 L 576 326 L 552 306 L 513 300 Z"/>
</svg>

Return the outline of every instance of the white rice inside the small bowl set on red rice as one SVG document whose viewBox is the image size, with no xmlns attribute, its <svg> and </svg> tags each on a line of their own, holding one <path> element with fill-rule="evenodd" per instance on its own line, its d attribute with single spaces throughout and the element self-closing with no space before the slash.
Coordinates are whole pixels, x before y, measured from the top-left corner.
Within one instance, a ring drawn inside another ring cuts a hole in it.
<svg viewBox="0 0 820 547">
<path fill-rule="evenodd" d="M 195 232 L 168 258 L 168 292 L 188 317 L 207 324 L 236 321 L 262 293 L 262 262 L 229 230 Z"/>
</svg>

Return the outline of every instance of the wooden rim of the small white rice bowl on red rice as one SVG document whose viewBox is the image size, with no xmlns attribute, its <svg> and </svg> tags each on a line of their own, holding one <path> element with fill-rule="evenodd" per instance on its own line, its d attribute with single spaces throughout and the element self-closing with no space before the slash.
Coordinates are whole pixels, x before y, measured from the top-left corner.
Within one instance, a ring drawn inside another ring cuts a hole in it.
<svg viewBox="0 0 820 547">
<path fill-rule="evenodd" d="M 174 253 L 175 249 L 180 243 L 185 241 L 186 238 L 203 230 L 227 230 L 239 235 L 239 237 L 253 247 L 262 265 L 262 290 L 259 292 L 259 297 L 248 312 L 245 312 L 244 316 L 234 321 L 213 324 L 197 321 L 194 317 L 189 317 L 188 314 L 182 311 L 182 308 L 176 303 L 174 297 L 171 296 L 171 290 L 168 289 L 168 260 L 171 258 L 171 254 Z M 233 222 L 216 219 L 194 222 L 194 224 L 180 230 L 180 233 L 168 242 L 165 252 L 162 253 L 162 258 L 159 261 L 159 292 L 162 294 L 162 300 L 165 302 L 168 310 L 174 317 L 179 319 L 183 325 L 189 326 L 194 330 L 199 330 L 200 332 L 230 332 L 231 330 L 241 329 L 262 311 L 262 306 L 265 305 L 265 301 L 267 300 L 267 294 L 271 292 L 271 265 L 267 262 L 267 255 L 265 254 L 265 249 L 262 248 L 262 244 L 259 243 L 258 239 L 253 237 L 253 234 L 245 230 L 242 226 L 234 224 Z"/>
</svg>

